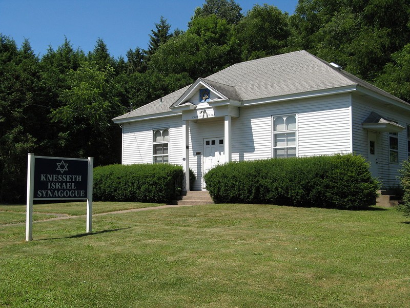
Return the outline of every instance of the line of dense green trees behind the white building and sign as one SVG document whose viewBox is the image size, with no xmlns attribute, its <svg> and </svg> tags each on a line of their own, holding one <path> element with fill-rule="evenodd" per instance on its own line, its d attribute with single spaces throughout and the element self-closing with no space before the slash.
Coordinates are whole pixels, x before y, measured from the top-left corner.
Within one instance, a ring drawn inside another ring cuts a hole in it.
<svg viewBox="0 0 410 308">
<path fill-rule="evenodd" d="M 65 38 L 37 56 L 0 34 L 0 202 L 24 201 L 27 153 L 119 163 L 112 118 L 242 61 L 304 49 L 410 101 L 409 20 L 407 0 L 299 0 L 292 15 L 206 0 L 186 31 L 161 16 L 126 59 L 100 38 L 87 54 Z"/>
</svg>

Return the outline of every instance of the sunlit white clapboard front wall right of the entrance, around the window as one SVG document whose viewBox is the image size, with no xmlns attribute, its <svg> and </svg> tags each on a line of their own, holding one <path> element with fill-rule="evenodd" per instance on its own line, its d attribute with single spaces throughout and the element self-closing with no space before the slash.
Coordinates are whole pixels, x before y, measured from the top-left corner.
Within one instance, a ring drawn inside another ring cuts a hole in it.
<svg viewBox="0 0 410 308">
<path fill-rule="evenodd" d="M 248 106 L 232 122 L 232 160 L 272 156 L 272 116 L 297 114 L 298 155 L 330 155 L 352 152 L 350 96 L 329 95 Z"/>
</svg>

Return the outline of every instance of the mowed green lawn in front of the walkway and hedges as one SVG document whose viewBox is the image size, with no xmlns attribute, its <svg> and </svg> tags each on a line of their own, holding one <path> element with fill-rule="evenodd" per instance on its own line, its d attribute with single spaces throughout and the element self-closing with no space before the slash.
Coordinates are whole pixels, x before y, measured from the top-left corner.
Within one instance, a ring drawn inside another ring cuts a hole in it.
<svg viewBox="0 0 410 308">
<path fill-rule="evenodd" d="M 58 212 L 57 212 L 58 213 Z M 406 307 L 395 209 L 215 204 L 0 226 L 0 306 Z"/>
</svg>

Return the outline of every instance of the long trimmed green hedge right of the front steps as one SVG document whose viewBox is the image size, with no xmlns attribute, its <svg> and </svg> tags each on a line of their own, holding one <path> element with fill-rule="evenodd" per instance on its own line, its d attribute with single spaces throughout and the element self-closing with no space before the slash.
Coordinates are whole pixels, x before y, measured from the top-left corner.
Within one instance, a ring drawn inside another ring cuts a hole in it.
<svg viewBox="0 0 410 308">
<path fill-rule="evenodd" d="M 205 175 L 220 203 L 258 203 L 354 209 L 376 203 L 379 183 L 361 156 L 231 162 Z"/>
</svg>

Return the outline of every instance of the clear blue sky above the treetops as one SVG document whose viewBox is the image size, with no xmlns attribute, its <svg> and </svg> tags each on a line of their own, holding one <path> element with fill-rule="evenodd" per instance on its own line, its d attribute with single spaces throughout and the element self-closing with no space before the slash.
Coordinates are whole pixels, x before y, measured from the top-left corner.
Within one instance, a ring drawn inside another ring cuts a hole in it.
<svg viewBox="0 0 410 308">
<path fill-rule="evenodd" d="M 67 36 L 74 48 L 86 53 L 102 38 L 115 58 L 127 50 L 146 49 L 149 34 L 160 16 L 171 30 L 186 30 L 195 8 L 205 0 L 0 0 L 0 33 L 20 47 L 25 38 L 38 55 L 56 49 Z M 277 6 L 293 14 L 297 0 L 236 0 L 242 12 L 255 4 Z"/>
</svg>

